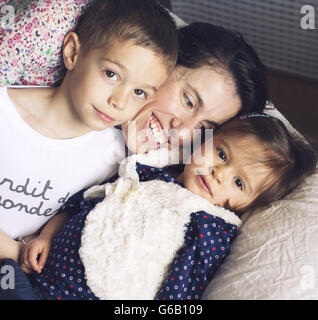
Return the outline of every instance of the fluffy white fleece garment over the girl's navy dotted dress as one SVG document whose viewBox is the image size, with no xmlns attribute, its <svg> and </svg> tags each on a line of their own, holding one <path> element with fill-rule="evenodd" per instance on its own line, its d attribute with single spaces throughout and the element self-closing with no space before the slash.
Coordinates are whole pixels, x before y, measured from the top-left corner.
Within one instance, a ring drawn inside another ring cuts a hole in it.
<svg viewBox="0 0 318 320">
<path fill-rule="evenodd" d="M 133 155 L 121 164 L 117 181 L 84 195 L 106 195 L 87 216 L 79 251 L 87 284 L 100 299 L 153 299 L 183 245 L 192 212 L 204 210 L 240 225 L 234 213 L 175 183 L 139 181 L 136 161 L 163 167 L 177 162 L 171 154 L 161 149 Z"/>
</svg>

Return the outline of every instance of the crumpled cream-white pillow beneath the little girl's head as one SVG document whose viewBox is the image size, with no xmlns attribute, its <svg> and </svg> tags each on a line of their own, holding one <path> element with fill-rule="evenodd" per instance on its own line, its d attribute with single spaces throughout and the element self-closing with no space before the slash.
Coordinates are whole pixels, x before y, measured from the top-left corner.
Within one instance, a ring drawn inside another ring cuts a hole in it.
<svg viewBox="0 0 318 320">
<path fill-rule="evenodd" d="M 301 136 L 277 109 L 266 112 Z M 318 299 L 318 169 L 246 218 L 203 299 Z"/>
</svg>

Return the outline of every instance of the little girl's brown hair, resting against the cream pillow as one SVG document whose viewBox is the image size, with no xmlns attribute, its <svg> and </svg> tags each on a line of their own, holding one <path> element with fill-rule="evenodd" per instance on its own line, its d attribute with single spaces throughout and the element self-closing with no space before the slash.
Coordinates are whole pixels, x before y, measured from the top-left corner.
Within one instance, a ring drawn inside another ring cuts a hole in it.
<svg viewBox="0 0 318 320">
<path fill-rule="evenodd" d="M 261 154 L 253 153 L 251 161 L 270 169 L 271 177 L 274 177 L 273 180 L 269 179 L 270 182 L 264 185 L 253 202 L 241 211 L 266 206 L 283 198 L 315 171 L 317 153 L 308 143 L 292 137 L 279 119 L 264 114 L 243 115 L 230 120 L 228 124 L 221 127 L 223 134 L 252 134 L 264 143 L 264 151 Z"/>
</svg>

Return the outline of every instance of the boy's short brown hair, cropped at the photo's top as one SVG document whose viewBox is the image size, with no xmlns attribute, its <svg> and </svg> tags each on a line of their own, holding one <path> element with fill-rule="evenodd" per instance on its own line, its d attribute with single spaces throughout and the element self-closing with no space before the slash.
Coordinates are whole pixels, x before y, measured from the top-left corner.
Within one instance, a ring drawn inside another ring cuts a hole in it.
<svg viewBox="0 0 318 320">
<path fill-rule="evenodd" d="M 108 48 L 114 41 L 132 40 L 163 57 L 172 69 L 178 55 L 176 25 L 155 0 L 95 0 L 75 28 L 84 54 Z"/>
</svg>

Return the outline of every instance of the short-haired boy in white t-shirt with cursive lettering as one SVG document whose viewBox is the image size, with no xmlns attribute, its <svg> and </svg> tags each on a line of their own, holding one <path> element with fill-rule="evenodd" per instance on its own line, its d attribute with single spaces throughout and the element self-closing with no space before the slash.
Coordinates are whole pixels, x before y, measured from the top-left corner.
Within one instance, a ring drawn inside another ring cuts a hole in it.
<svg viewBox="0 0 318 320">
<path fill-rule="evenodd" d="M 0 90 L 0 259 L 17 259 L 12 239 L 116 172 L 125 142 L 110 127 L 140 110 L 176 56 L 174 22 L 155 1 L 97 0 L 64 39 L 60 86 Z"/>
</svg>

